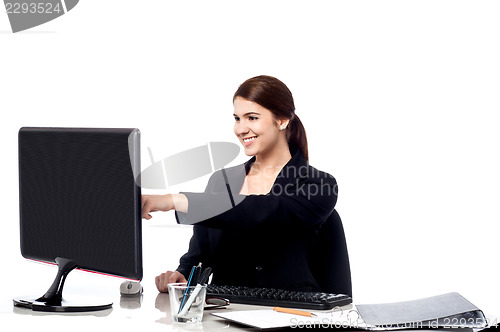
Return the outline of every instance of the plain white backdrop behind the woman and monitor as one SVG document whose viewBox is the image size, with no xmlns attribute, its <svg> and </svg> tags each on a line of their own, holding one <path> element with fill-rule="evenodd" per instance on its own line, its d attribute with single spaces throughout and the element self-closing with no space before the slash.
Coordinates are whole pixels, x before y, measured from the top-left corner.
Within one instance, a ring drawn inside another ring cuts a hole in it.
<svg viewBox="0 0 500 332">
<path fill-rule="evenodd" d="M 339 183 L 355 302 L 457 291 L 500 315 L 499 15 L 496 1 L 85 0 L 13 34 L 0 13 L 1 312 L 55 275 L 19 250 L 20 127 L 137 127 L 156 159 L 237 143 L 232 95 L 266 74 L 294 94 L 310 163 Z M 154 292 L 191 228 L 159 213 L 143 231 Z"/>
</svg>

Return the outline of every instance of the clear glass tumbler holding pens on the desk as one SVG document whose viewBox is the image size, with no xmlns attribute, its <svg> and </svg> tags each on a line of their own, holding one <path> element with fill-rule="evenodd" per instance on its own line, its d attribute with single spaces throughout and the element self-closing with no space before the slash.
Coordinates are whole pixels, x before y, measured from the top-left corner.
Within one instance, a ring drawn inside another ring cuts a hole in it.
<svg viewBox="0 0 500 332">
<path fill-rule="evenodd" d="M 186 283 L 169 284 L 168 293 L 174 322 L 201 322 L 207 295 L 207 285 L 188 287 Z"/>
</svg>

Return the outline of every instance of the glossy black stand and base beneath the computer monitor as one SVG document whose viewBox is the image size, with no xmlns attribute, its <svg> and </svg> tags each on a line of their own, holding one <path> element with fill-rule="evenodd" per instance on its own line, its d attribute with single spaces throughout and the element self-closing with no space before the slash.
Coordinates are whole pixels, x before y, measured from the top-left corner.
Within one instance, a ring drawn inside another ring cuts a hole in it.
<svg viewBox="0 0 500 332">
<path fill-rule="evenodd" d="M 58 272 L 52 286 L 42 297 L 26 298 L 18 297 L 14 299 L 14 306 L 28 308 L 33 311 L 48 311 L 48 312 L 84 312 L 109 309 L 113 303 L 98 302 L 92 298 L 82 299 L 63 299 L 62 291 L 64 281 L 67 275 L 77 267 L 76 263 L 70 259 L 57 257 L 55 262 L 58 266 Z M 99 301 L 99 300 L 97 300 Z"/>
</svg>

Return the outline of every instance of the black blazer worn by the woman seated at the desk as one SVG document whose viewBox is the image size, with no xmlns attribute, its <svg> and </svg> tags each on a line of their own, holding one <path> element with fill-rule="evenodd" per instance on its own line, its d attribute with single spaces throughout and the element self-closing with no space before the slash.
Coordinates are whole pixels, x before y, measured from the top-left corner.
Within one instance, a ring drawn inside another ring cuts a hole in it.
<svg viewBox="0 0 500 332">
<path fill-rule="evenodd" d="M 177 270 L 187 277 L 202 262 L 214 284 L 321 290 L 311 262 L 337 201 L 335 179 L 292 151 L 268 194 L 239 195 L 254 161 L 215 172 L 204 193 L 184 193 L 189 211 L 176 212 L 177 222 L 194 227 Z"/>
</svg>

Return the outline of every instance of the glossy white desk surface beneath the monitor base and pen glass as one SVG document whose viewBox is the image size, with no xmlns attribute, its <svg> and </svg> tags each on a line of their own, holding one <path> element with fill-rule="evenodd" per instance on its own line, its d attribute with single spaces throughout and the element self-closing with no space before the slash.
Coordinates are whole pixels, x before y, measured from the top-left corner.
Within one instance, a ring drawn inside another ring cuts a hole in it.
<svg viewBox="0 0 500 332">
<path fill-rule="evenodd" d="M 117 295 L 113 308 L 90 313 L 43 313 L 14 307 L 5 310 L 2 303 L 0 326 L 33 329 L 34 331 L 71 330 L 85 331 L 259 331 L 212 315 L 212 312 L 235 310 L 262 310 L 269 307 L 231 304 L 223 309 L 205 310 L 203 322 L 183 324 L 172 321 L 168 294 L 146 293 L 140 297 Z M 270 308 L 269 308 L 270 309 Z M 419 330 L 420 332 L 423 330 Z M 432 329 L 433 332 L 438 330 Z M 472 332 L 472 329 L 462 331 Z"/>
</svg>

